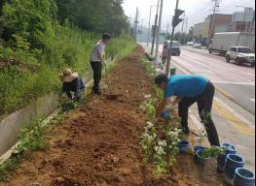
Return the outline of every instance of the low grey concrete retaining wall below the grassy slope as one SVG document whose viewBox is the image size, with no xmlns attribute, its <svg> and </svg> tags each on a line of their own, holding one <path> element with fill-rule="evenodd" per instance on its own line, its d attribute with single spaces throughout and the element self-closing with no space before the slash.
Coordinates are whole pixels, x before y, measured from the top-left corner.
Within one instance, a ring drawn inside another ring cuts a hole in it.
<svg viewBox="0 0 256 186">
<path fill-rule="evenodd" d="M 91 79 L 91 72 L 85 78 L 86 83 Z M 24 109 L 20 109 L 0 121 L 0 157 L 18 141 L 20 128 L 23 124 L 34 119 L 46 118 L 59 106 L 59 96 L 51 93 L 39 98 Z"/>
</svg>

